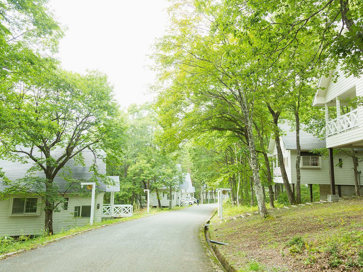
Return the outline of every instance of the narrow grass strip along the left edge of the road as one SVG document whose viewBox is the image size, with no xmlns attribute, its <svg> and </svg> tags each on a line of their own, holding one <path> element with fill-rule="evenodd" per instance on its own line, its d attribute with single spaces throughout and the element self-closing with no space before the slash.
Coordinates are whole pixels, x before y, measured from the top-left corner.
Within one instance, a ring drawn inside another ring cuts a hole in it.
<svg viewBox="0 0 363 272">
<path fill-rule="evenodd" d="M 163 213 L 166 211 L 180 210 L 183 208 L 185 207 L 175 206 L 173 207 L 172 210 L 170 210 L 169 208 L 159 209 L 158 207 L 156 208 L 150 207 L 150 215 Z M 19 238 L 12 238 L 10 236 L 0 236 L 0 255 L 19 250 L 30 250 L 39 247 L 43 244 L 46 244 L 47 242 L 52 241 L 54 239 L 61 239 L 65 236 L 73 235 L 81 231 L 89 230 L 91 228 L 97 228 L 108 224 L 114 224 L 122 221 L 130 221 L 138 219 L 146 215 L 148 215 L 146 209 L 134 209 L 132 217 L 103 219 L 101 222 L 93 223 L 92 226 L 90 224 L 87 224 L 85 226 L 77 226 L 69 230 L 62 230 L 53 235 L 46 235 L 46 234 L 39 234 L 34 236 L 21 235 Z"/>
</svg>

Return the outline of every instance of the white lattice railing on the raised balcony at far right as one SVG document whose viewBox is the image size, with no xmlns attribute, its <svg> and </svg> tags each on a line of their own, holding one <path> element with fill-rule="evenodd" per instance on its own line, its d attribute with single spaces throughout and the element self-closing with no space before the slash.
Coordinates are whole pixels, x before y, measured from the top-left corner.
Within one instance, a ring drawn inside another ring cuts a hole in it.
<svg viewBox="0 0 363 272">
<path fill-rule="evenodd" d="M 334 135 L 339 132 L 346 131 L 348 129 L 358 127 L 359 119 L 358 119 L 358 109 L 354 111 L 350 111 L 347 114 L 340 116 L 339 118 L 335 118 L 330 120 L 326 124 L 326 135 Z"/>
</svg>

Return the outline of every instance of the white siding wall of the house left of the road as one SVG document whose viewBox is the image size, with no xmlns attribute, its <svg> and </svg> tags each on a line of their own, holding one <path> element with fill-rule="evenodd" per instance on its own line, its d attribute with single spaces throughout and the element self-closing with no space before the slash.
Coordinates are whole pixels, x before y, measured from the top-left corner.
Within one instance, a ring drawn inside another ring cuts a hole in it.
<svg viewBox="0 0 363 272">
<path fill-rule="evenodd" d="M 19 195 L 20 196 L 20 195 Z M 74 206 L 90 206 L 91 197 L 82 198 L 77 195 L 65 195 L 69 198 L 68 210 L 53 213 L 53 230 L 59 232 L 62 229 L 68 230 L 75 226 L 89 224 L 89 218 L 73 218 Z M 97 209 L 97 204 L 100 204 Z M 94 222 L 100 222 L 102 216 L 103 193 L 97 194 L 95 199 Z M 43 207 L 40 215 L 9 216 L 10 199 L 0 201 L 0 236 L 17 236 L 41 234 L 44 230 L 45 213 Z M 71 214 L 72 213 L 72 214 Z"/>
</svg>

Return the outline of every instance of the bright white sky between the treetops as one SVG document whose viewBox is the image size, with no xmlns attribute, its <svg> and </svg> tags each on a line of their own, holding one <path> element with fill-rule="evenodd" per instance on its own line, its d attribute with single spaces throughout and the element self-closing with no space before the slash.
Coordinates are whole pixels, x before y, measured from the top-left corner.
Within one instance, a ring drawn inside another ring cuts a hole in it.
<svg viewBox="0 0 363 272">
<path fill-rule="evenodd" d="M 98 69 L 109 76 L 121 107 L 152 100 L 155 73 L 146 56 L 168 24 L 167 0 L 50 0 L 68 26 L 57 57 L 66 70 Z"/>
</svg>

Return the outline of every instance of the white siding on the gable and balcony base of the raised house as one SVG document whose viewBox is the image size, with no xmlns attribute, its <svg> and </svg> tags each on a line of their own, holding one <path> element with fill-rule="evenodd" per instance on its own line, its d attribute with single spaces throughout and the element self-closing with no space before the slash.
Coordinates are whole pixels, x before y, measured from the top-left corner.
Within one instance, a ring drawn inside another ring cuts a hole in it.
<svg viewBox="0 0 363 272">
<path fill-rule="evenodd" d="M 350 76 L 346 78 L 343 71 L 337 68 L 339 78 L 336 83 L 330 81 L 325 93 L 325 103 L 330 103 L 331 100 L 335 101 L 339 95 L 349 90 L 352 86 L 356 86 L 356 95 L 363 95 L 363 77 L 355 78 Z M 334 73 L 336 72 L 334 71 Z M 329 111 L 336 110 L 335 107 L 329 107 Z M 339 147 L 346 144 L 351 144 L 363 140 L 363 107 L 358 107 L 359 126 L 348 131 L 343 131 L 335 135 L 328 136 L 326 139 L 327 147 Z"/>
</svg>

